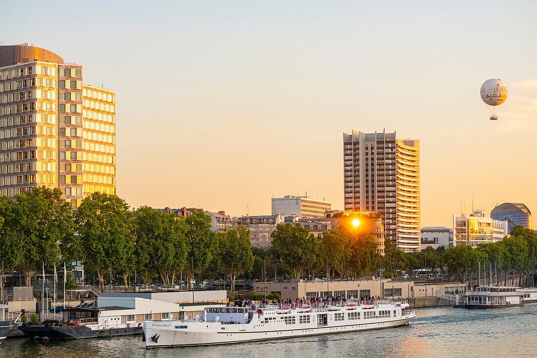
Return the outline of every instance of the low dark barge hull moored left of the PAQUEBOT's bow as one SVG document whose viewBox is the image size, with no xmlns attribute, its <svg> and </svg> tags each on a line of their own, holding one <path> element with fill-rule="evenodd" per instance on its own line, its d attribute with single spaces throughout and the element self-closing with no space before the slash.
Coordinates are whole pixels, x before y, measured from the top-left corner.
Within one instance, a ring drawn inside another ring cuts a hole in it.
<svg viewBox="0 0 537 358">
<path fill-rule="evenodd" d="M 23 325 L 19 330 L 30 338 L 48 338 L 57 340 L 111 338 L 115 335 L 143 334 L 142 327 L 110 328 L 108 330 L 92 330 L 86 326 L 52 326 L 52 325 Z"/>
</svg>

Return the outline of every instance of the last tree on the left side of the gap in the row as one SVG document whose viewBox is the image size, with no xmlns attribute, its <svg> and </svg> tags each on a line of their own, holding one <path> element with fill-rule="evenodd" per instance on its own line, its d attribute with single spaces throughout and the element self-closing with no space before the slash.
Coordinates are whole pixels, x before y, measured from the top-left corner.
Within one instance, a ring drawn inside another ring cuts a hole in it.
<svg viewBox="0 0 537 358">
<path fill-rule="evenodd" d="M 250 230 L 241 225 L 228 232 L 219 233 L 219 236 L 222 269 L 229 273 L 231 292 L 235 292 L 237 276 L 251 270 L 253 266 Z"/>
</svg>

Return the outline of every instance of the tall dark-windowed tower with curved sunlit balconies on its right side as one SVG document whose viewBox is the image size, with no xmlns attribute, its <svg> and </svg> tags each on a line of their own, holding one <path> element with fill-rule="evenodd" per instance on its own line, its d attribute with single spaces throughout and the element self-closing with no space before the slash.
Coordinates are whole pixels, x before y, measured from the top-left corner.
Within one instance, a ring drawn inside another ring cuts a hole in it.
<svg viewBox="0 0 537 358">
<path fill-rule="evenodd" d="M 381 215 L 385 238 L 420 249 L 419 140 L 396 133 L 343 133 L 345 210 Z"/>
</svg>

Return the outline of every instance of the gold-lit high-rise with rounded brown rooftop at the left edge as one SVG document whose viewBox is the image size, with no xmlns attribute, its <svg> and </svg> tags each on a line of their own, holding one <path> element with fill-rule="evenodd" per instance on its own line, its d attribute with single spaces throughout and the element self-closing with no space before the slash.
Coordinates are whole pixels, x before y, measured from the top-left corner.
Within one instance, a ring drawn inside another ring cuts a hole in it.
<svg viewBox="0 0 537 358">
<path fill-rule="evenodd" d="M 115 93 L 44 48 L 0 46 L 0 194 L 60 188 L 77 207 L 115 194 Z"/>
</svg>

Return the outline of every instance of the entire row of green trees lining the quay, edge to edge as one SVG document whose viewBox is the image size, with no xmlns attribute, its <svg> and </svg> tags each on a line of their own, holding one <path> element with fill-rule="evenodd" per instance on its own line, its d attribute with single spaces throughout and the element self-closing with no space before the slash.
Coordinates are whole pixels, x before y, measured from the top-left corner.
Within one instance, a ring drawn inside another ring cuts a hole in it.
<svg viewBox="0 0 537 358">
<path fill-rule="evenodd" d="M 31 284 L 54 263 L 82 261 L 86 277 L 95 274 L 104 290 L 110 267 L 127 287 L 136 272 L 148 285 L 171 287 L 179 276 L 193 281 L 228 277 L 234 290 L 237 277 L 272 276 L 361 277 L 385 269 L 387 277 L 419 268 L 447 268 L 462 281 L 471 281 L 479 262 L 495 262 L 498 271 L 519 284 L 537 267 L 537 235 L 516 227 L 511 237 L 494 244 L 426 248 L 404 253 L 386 241 L 385 256 L 375 240 L 340 226 L 317 237 L 300 224 L 280 224 L 272 233 L 273 246 L 250 247 L 250 232 L 240 226 L 226 233 L 211 230 L 204 213 L 175 218 L 142 206 L 130 209 L 118 196 L 95 193 L 72 210 L 58 189 L 37 187 L 11 199 L 0 197 L 0 259 Z"/>
</svg>

